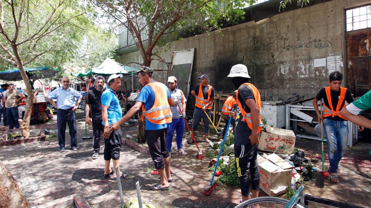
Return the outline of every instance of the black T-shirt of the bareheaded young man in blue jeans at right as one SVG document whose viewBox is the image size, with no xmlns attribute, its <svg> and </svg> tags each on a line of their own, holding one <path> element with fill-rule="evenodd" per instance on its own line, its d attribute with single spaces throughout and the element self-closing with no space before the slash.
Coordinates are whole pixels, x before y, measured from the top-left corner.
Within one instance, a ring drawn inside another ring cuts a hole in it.
<svg viewBox="0 0 371 208">
<path fill-rule="evenodd" d="M 333 91 L 333 90 L 330 89 L 330 94 L 331 94 L 332 108 L 334 110 L 336 110 L 336 106 L 338 105 L 339 98 L 340 98 L 340 90 L 339 91 Z M 324 98 L 325 105 L 331 109 L 330 105 L 328 104 L 325 88 L 322 88 L 321 90 L 319 90 L 318 94 L 316 95 L 317 100 L 321 100 L 322 98 Z M 345 92 L 345 99 L 343 100 L 343 102 L 341 104 L 341 107 L 345 105 L 345 101 L 347 101 L 347 103 L 352 103 L 354 101 L 354 99 L 353 99 L 353 97 L 350 94 L 350 91 L 348 89 Z M 341 109 L 341 107 L 340 107 L 340 109 Z M 322 109 L 323 109 L 323 107 L 322 107 Z M 330 120 L 335 120 L 335 121 L 345 121 L 344 119 L 342 119 L 338 116 L 334 116 L 334 117 L 329 116 L 329 117 L 325 117 L 325 118 L 328 118 Z"/>
</svg>

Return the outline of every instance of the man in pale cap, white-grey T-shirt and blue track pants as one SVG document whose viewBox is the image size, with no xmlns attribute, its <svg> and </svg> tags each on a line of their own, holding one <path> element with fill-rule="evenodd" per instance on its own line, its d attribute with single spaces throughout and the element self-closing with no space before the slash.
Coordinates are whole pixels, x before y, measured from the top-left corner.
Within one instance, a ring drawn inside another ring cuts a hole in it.
<svg viewBox="0 0 371 208">
<path fill-rule="evenodd" d="M 184 118 L 185 107 L 187 99 L 184 93 L 178 89 L 178 80 L 176 77 L 171 76 L 167 78 L 167 85 L 171 98 L 174 100 L 174 107 L 170 107 L 171 114 L 173 114 L 171 123 L 167 127 L 167 151 L 171 151 L 171 143 L 173 142 L 174 131 L 177 131 L 175 141 L 177 142 L 177 154 L 187 155 L 188 153 L 183 150 L 183 134 L 184 134 Z M 182 109 L 180 111 L 180 108 Z"/>
</svg>

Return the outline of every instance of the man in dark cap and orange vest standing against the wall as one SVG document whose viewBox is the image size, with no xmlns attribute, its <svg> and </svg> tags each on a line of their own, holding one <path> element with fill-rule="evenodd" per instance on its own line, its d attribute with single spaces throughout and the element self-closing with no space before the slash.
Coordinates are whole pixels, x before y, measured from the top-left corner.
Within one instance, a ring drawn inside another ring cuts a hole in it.
<svg viewBox="0 0 371 208">
<path fill-rule="evenodd" d="M 204 121 L 204 142 L 210 142 L 207 139 L 207 135 L 209 134 L 210 128 L 210 121 L 209 118 L 211 117 L 211 108 L 213 107 L 214 103 L 214 87 L 209 85 L 209 76 L 207 74 L 203 74 L 200 79 L 200 84 L 197 84 L 194 90 L 191 91 L 191 94 L 196 97 L 196 104 L 194 105 L 196 108 L 194 109 L 193 113 L 193 123 L 192 123 L 192 134 L 195 135 L 198 123 L 200 123 L 201 118 Z M 209 115 L 207 118 L 206 114 Z M 188 144 L 193 143 L 193 141 L 188 142 Z"/>
</svg>

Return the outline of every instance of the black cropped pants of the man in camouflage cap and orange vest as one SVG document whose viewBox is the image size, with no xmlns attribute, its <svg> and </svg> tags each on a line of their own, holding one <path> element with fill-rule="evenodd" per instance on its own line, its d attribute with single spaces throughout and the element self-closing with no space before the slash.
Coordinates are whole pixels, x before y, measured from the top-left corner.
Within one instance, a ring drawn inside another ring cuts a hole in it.
<svg viewBox="0 0 371 208">
<path fill-rule="evenodd" d="M 152 160 L 155 164 L 155 168 L 165 168 L 164 158 L 169 157 L 170 154 L 167 151 L 167 128 L 159 130 L 145 130 L 145 140 L 150 149 Z"/>
</svg>

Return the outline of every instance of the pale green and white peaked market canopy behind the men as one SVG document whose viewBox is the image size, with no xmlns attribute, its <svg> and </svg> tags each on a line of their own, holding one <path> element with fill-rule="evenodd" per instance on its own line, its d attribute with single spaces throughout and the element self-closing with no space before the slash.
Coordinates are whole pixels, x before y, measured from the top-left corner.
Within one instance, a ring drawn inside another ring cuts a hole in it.
<svg viewBox="0 0 371 208">
<path fill-rule="evenodd" d="M 111 58 L 106 58 L 101 65 L 96 68 L 92 68 L 86 76 L 96 74 L 96 75 L 111 75 L 111 74 L 124 74 L 131 75 L 136 74 L 135 71 L 140 70 L 140 68 L 134 68 L 129 66 L 124 66 Z"/>
</svg>

